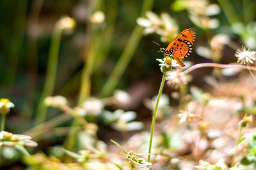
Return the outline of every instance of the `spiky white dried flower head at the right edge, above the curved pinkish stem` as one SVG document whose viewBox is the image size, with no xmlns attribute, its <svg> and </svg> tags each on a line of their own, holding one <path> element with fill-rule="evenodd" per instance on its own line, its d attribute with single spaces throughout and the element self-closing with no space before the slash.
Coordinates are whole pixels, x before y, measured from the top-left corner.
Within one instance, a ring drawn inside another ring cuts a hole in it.
<svg viewBox="0 0 256 170">
<path fill-rule="evenodd" d="M 250 48 L 246 48 L 246 46 L 242 46 L 242 48 L 236 50 L 235 56 L 237 57 L 237 62 L 240 64 L 253 64 L 253 61 L 256 60 L 256 52 L 250 51 Z"/>
</svg>

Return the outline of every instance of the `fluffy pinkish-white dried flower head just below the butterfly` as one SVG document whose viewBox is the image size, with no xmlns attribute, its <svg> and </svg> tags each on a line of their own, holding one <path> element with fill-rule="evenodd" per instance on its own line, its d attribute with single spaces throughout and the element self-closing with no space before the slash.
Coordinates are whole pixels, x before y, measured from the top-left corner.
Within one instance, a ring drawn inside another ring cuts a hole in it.
<svg viewBox="0 0 256 170">
<path fill-rule="evenodd" d="M 167 84 L 174 88 L 179 88 L 188 82 L 186 75 L 179 69 L 175 71 L 168 71 L 166 74 Z"/>
</svg>

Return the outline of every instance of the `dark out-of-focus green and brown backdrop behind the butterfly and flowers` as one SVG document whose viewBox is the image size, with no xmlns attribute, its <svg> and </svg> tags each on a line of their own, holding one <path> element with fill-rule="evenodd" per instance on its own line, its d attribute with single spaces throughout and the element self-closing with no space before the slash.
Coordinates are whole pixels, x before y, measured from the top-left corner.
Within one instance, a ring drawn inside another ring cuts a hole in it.
<svg viewBox="0 0 256 170">
<path fill-rule="evenodd" d="M 124 90 L 131 100 L 106 104 L 111 103 L 107 100 L 104 110 L 135 111 L 135 120 L 147 130 L 152 118 L 148 101 L 157 95 L 162 76 L 156 60 L 163 58 L 160 46 L 166 48 L 179 32 L 193 27 L 196 39 L 186 66 L 237 62 L 234 54 L 241 45 L 256 48 L 255 11 L 253 0 L 1 0 L 0 96 L 15 104 L 5 130 L 26 134 L 60 115 L 63 110 L 45 106 L 45 97 L 64 96 L 72 108 L 92 97 L 108 99 L 116 90 Z M 211 91 L 213 78 L 233 81 L 240 74 L 199 69 L 189 86 Z M 166 86 L 168 106 L 184 108 L 177 97 L 182 92 Z M 69 118 L 61 127 L 72 127 L 72 121 Z M 116 132 L 102 125 L 105 119 L 88 121 L 97 124 L 97 136 L 106 143 L 120 134 L 120 141 L 125 141 L 134 133 Z M 69 129 L 60 131 L 35 139 L 35 150 L 61 145 Z"/>
</svg>

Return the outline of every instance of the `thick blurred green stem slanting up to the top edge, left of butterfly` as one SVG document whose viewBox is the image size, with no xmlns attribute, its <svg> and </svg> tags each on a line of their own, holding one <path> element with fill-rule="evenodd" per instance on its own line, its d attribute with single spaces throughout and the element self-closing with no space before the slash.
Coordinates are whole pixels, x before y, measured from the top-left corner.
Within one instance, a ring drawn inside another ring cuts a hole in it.
<svg viewBox="0 0 256 170">
<path fill-rule="evenodd" d="M 141 17 L 145 15 L 146 11 L 150 11 L 152 9 L 154 0 L 144 0 L 143 1 L 143 9 L 141 11 Z M 134 31 L 131 34 L 131 38 L 129 39 L 127 46 L 125 46 L 124 52 L 122 53 L 120 59 L 118 60 L 115 68 L 110 74 L 108 81 L 102 88 L 100 92 L 100 96 L 105 97 L 111 94 L 111 92 L 115 89 L 117 83 L 120 81 L 122 74 L 124 73 L 126 67 L 134 55 L 134 52 L 140 42 L 142 37 L 143 27 L 140 25 L 136 25 Z"/>
</svg>

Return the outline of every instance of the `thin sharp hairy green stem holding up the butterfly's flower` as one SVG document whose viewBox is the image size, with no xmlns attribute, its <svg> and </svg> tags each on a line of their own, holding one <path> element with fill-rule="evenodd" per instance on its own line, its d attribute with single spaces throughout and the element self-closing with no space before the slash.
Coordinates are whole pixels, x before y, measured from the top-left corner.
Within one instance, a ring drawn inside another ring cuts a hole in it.
<svg viewBox="0 0 256 170">
<path fill-rule="evenodd" d="M 151 147 L 152 147 L 153 132 L 154 132 L 154 127 L 155 127 L 155 122 L 156 122 L 156 112 L 157 112 L 159 99 L 160 99 L 162 91 L 163 91 L 165 77 L 166 77 L 166 73 L 164 72 L 163 73 L 163 78 L 162 78 L 162 81 L 161 81 L 161 86 L 160 86 L 158 96 L 157 96 L 156 107 L 155 107 L 153 118 L 152 118 L 151 131 L 150 131 L 150 141 L 149 141 L 149 148 L 148 148 L 148 162 L 150 162 L 150 153 L 151 153 Z"/>
</svg>

